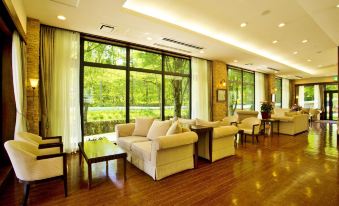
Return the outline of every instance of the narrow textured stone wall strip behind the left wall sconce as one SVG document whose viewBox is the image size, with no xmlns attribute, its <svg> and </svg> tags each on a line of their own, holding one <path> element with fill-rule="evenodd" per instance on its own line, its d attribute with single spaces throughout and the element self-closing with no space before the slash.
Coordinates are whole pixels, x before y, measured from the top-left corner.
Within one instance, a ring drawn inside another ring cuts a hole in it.
<svg viewBox="0 0 339 206">
<path fill-rule="evenodd" d="M 27 122 L 28 131 L 39 134 L 39 86 L 33 92 L 29 79 L 39 79 L 40 22 L 27 19 Z M 34 94 L 34 96 L 33 96 Z"/>
</svg>

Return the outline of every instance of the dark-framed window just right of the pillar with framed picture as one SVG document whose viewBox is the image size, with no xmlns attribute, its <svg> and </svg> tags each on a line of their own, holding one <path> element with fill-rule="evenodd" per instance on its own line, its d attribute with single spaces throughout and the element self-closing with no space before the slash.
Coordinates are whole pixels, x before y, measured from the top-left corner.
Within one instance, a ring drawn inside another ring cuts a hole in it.
<svg viewBox="0 0 339 206">
<path fill-rule="evenodd" d="M 254 110 L 254 73 L 228 67 L 228 114 L 236 109 Z"/>
</svg>

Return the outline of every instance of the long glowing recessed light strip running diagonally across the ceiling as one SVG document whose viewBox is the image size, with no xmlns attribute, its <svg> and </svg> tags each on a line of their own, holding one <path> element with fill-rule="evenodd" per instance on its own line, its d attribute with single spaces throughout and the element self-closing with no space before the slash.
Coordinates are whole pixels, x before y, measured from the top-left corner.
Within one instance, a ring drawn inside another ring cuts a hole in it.
<svg viewBox="0 0 339 206">
<path fill-rule="evenodd" d="M 272 61 L 276 61 L 294 69 L 309 74 L 316 73 L 316 71 L 312 67 L 297 64 L 294 61 L 286 59 L 281 55 L 268 52 L 267 50 L 262 49 L 257 45 L 249 44 L 247 43 L 247 41 L 241 41 L 236 36 L 231 36 L 229 33 L 218 32 L 208 24 L 203 25 L 198 21 L 176 15 L 170 10 L 159 9 L 156 4 L 144 4 L 143 1 L 126 0 L 123 4 L 123 8 L 199 33 L 201 35 L 238 47 L 256 55 L 271 59 Z"/>
</svg>

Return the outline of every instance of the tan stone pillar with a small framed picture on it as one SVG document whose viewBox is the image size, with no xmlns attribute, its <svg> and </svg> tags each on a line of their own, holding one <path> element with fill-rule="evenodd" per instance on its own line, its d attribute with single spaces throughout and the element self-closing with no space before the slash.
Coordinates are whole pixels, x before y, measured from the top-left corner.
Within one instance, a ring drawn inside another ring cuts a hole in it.
<svg viewBox="0 0 339 206">
<path fill-rule="evenodd" d="M 222 120 L 227 114 L 227 101 L 217 102 L 217 89 L 226 89 L 220 85 L 222 80 L 227 81 L 226 64 L 220 61 L 212 63 L 212 120 Z"/>
</svg>

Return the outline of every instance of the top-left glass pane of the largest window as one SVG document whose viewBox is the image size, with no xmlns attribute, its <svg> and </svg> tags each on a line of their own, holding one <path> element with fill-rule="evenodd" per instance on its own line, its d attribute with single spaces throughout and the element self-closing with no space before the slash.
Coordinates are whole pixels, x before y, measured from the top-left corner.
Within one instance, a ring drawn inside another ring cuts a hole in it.
<svg viewBox="0 0 339 206">
<path fill-rule="evenodd" d="M 126 66 L 126 48 L 102 44 L 97 42 L 84 42 L 84 61 Z"/>
</svg>

